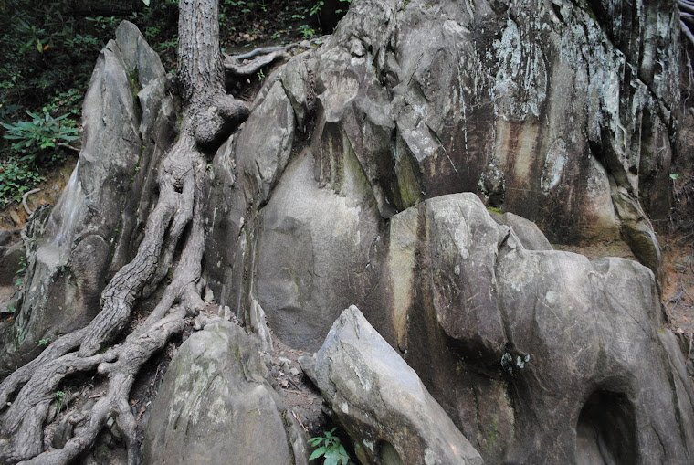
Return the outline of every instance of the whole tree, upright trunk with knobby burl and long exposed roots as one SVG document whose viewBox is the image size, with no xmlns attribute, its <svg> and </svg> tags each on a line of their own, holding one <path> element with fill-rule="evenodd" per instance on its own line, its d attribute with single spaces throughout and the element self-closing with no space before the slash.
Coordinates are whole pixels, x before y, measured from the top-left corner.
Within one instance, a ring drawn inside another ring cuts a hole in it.
<svg viewBox="0 0 694 465">
<path fill-rule="evenodd" d="M 86 328 L 61 336 L 0 385 L 0 461 L 69 463 L 115 420 L 129 463 L 139 462 L 136 420 L 128 402 L 131 386 L 152 354 L 183 331 L 184 317 L 202 308 L 205 153 L 216 150 L 248 115 L 246 105 L 224 89 L 217 1 L 182 0 L 179 37 L 184 119 L 178 141 L 163 160 L 158 203 L 137 255 L 110 280 L 101 294 L 101 310 Z M 174 266 L 177 249 L 182 252 L 161 301 L 123 343 L 110 346 L 130 326 L 132 307 L 143 291 L 158 285 Z M 74 435 L 63 449 L 43 451 L 43 426 L 59 384 L 68 375 L 95 370 L 108 378 L 108 391 L 88 414 L 73 418 Z"/>
</svg>

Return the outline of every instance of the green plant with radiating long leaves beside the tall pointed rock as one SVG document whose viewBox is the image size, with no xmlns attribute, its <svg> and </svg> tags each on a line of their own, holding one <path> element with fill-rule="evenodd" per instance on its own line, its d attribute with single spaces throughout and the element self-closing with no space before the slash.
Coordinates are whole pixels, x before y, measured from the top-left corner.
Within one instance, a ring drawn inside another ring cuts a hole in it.
<svg viewBox="0 0 694 465">
<path fill-rule="evenodd" d="M 3 137 L 12 143 L 12 150 L 16 153 L 24 153 L 20 160 L 35 162 L 40 151 L 49 147 L 55 147 L 57 143 L 68 143 L 79 139 L 78 128 L 73 120 L 68 120 L 69 114 L 53 118 L 50 113 L 44 111 L 43 115 L 26 111 L 31 116 L 30 122 L 1 122 L 6 132 Z"/>
</svg>

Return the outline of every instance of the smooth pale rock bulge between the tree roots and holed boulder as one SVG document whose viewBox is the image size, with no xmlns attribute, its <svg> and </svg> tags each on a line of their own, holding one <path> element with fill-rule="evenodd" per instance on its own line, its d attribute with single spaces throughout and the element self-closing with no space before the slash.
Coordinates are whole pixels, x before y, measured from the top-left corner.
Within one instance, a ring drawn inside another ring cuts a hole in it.
<svg viewBox="0 0 694 465">
<path fill-rule="evenodd" d="M 216 153 L 206 275 L 239 317 L 258 301 L 280 339 L 315 351 L 340 309 L 371 293 L 383 223 L 346 135 L 335 126 L 318 145 L 301 140 L 308 57 L 297 58 L 268 77 L 247 122 Z M 318 165 L 330 157 L 335 166 Z"/>
</svg>

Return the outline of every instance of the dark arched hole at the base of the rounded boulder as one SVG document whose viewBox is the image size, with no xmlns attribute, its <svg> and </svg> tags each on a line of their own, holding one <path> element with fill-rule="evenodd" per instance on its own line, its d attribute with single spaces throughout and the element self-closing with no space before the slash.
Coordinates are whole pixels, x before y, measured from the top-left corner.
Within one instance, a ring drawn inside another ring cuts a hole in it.
<svg viewBox="0 0 694 465">
<path fill-rule="evenodd" d="M 578 465 L 638 461 L 634 408 L 625 395 L 597 391 L 586 401 L 576 425 Z"/>
</svg>

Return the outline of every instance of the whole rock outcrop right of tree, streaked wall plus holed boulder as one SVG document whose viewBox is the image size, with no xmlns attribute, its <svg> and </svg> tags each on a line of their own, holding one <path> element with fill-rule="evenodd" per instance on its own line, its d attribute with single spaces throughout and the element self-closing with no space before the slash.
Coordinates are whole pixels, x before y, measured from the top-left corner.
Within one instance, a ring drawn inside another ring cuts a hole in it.
<svg viewBox="0 0 694 465">
<path fill-rule="evenodd" d="M 355 2 L 216 154 L 216 295 L 312 351 L 356 304 L 491 463 L 686 463 L 691 389 L 647 269 L 677 11 L 630 8 Z M 647 268 L 550 245 L 620 237 Z"/>
</svg>

